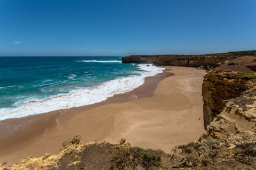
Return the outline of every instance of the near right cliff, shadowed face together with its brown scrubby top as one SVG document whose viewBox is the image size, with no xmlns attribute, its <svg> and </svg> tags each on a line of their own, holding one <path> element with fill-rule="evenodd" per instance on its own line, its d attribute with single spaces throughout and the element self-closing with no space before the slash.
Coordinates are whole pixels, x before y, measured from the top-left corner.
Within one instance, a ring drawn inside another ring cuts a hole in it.
<svg viewBox="0 0 256 170">
<path fill-rule="evenodd" d="M 202 85 L 205 128 L 221 113 L 228 99 L 241 96 L 255 85 L 253 66 L 256 57 L 237 57 L 205 75 Z"/>
</svg>

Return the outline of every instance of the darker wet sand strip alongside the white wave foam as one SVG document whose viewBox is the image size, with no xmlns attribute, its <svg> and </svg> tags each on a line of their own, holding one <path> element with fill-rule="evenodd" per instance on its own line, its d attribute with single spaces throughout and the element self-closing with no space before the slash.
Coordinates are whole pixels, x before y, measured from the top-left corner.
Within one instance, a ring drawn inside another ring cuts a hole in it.
<svg viewBox="0 0 256 170">
<path fill-rule="evenodd" d="M 116 94 L 113 97 L 108 97 L 108 99 L 101 101 L 100 103 L 73 107 L 67 110 L 56 110 L 47 113 L 29 115 L 26 117 L 8 118 L 6 120 L 1 120 L 0 162 L 6 161 L 2 159 L 6 154 L 9 154 L 10 152 L 15 153 L 16 150 L 28 147 L 37 139 L 44 138 L 47 133 L 51 132 L 53 129 L 58 127 L 58 125 L 60 125 L 59 120 L 61 117 L 68 119 L 69 117 L 72 117 L 74 113 L 90 110 L 104 104 L 124 103 L 127 101 L 132 101 L 134 100 L 134 96 L 136 96 L 136 99 L 152 96 L 152 92 L 154 89 L 156 89 L 157 83 L 159 83 L 159 81 L 163 80 L 167 76 L 172 76 L 172 73 L 166 73 L 165 70 L 163 73 L 159 73 L 154 76 L 148 76 L 145 78 L 145 82 L 140 87 L 137 87 L 136 89 L 133 89 L 124 94 Z M 35 131 L 33 129 L 35 129 Z M 59 146 L 58 148 L 60 148 Z M 19 161 L 17 159 L 14 160 L 16 162 Z M 8 161 L 8 164 L 10 162 L 13 161 Z"/>
</svg>

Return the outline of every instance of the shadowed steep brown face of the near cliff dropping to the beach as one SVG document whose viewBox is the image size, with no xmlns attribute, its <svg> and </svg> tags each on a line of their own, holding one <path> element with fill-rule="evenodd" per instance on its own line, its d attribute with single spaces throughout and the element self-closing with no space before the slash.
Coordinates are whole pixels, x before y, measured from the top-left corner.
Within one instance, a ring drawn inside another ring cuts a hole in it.
<svg viewBox="0 0 256 170">
<path fill-rule="evenodd" d="M 241 96 L 252 86 L 252 80 L 238 78 L 231 71 L 209 71 L 203 81 L 204 125 L 209 125 L 224 109 L 228 99 Z"/>
</svg>

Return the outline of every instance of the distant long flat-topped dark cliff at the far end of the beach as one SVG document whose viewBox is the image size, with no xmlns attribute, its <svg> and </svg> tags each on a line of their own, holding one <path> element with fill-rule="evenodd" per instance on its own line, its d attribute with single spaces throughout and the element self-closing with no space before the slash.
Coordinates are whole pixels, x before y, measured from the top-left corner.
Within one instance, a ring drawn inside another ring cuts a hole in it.
<svg viewBox="0 0 256 170">
<path fill-rule="evenodd" d="M 241 56 L 256 56 L 256 50 L 243 52 L 212 53 L 204 55 L 130 55 L 122 57 L 123 63 L 153 63 L 156 66 L 185 66 L 213 69 L 220 62 Z"/>
</svg>

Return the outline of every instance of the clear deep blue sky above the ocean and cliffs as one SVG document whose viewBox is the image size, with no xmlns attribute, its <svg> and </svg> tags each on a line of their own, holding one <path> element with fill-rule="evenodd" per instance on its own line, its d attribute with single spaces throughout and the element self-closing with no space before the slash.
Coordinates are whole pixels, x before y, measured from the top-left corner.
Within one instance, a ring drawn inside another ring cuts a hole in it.
<svg viewBox="0 0 256 170">
<path fill-rule="evenodd" d="M 256 50 L 255 0 L 1 0 L 0 56 Z"/>
</svg>

